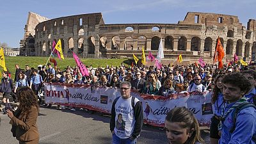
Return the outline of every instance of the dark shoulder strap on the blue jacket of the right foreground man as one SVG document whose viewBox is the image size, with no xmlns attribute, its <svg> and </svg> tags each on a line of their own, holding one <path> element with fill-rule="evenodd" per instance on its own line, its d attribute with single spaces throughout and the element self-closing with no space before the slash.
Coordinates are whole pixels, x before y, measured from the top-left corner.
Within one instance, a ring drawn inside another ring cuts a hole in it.
<svg viewBox="0 0 256 144">
<path fill-rule="evenodd" d="M 229 130 L 230 133 L 234 132 L 235 129 L 236 129 L 236 117 L 237 117 L 237 114 L 245 109 L 245 108 L 248 108 L 248 107 L 253 107 L 256 109 L 256 106 L 254 104 L 252 104 L 251 102 L 243 102 L 242 104 L 239 104 L 239 106 L 237 106 L 234 111 L 232 112 L 232 121 L 234 123 L 234 125 L 232 126 L 232 128 Z"/>
</svg>

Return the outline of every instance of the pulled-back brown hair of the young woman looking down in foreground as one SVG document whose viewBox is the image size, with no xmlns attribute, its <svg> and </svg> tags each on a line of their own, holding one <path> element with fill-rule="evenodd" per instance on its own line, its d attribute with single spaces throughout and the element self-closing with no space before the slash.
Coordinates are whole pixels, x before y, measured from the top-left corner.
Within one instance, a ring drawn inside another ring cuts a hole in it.
<svg viewBox="0 0 256 144">
<path fill-rule="evenodd" d="M 193 132 L 186 141 L 185 144 L 195 144 L 196 141 L 200 143 L 205 143 L 200 136 L 199 124 L 191 111 L 185 107 L 176 107 L 173 108 L 165 118 L 168 122 L 179 122 L 180 127 L 188 129 L 188 132 Z M 194 129 L 194 131 L 191 131 Z"/>
</svg>

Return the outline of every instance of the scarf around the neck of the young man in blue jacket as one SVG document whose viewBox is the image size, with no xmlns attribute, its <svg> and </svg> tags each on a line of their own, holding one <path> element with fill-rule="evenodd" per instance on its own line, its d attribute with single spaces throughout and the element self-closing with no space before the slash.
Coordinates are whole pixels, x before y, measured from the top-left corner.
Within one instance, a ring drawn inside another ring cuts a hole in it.
<svg viewBox="0 0 256 144">
<path fill-rule="evenodd" d="M 222 111 L 221 111 L 221 121 L 220 121 L 220 124 L 218 125 L 218 131 L 222 130 L 222 126 L 223 126 L 222 122 L 225 120 L 227 115 L 231 111 L 233 111 L 233 109 L 237 108 L 237 106 L 239 106 L 240 104 L 243 104 L 246 101 L 247 101 L 246 97 L 242 97 L 241 99 L 237 100 L 236 103 L 233 104 L 233 106 L 231 106 L 231 108 L 229 108 L 226 113 L 225 113 L 225 108 L 227 107 L 227 103 L 225 104 L 225 106 L 223 106 Z"/>
</svg>

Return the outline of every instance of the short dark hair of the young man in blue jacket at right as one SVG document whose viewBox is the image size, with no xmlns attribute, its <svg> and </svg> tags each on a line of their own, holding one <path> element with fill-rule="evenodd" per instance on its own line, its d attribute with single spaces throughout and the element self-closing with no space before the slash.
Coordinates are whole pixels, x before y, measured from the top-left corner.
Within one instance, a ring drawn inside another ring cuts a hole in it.
<svg viewBox="0 0 256 144">
<path fill-rule="evenodd" d="M 234 86 L 238 86 L 241 91 L 247 92 L 248 89 L 252 86 L 250 81 L 246 79 L 240 72 L 231 72 L 226 74 L 222 82 L 225 84 L 232 84 Z"/>
</svg>

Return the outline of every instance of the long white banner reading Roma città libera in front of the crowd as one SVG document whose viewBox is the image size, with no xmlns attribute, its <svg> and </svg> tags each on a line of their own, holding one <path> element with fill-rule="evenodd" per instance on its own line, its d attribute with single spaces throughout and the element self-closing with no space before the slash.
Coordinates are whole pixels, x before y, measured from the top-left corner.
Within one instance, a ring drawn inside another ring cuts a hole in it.
<svg viewBox="0 0 256 144">
<path fill-rule="evenodd" d="M 96 87 L 84 84 L 45 83 L 45 103 L 61 104 L 86 108 L 103 113 L 111 113 L 111 106 L 120 90 L 109 87 Z M 180 93 L 170 97 L 144 95 L 131 92 L 143 106 L 144 122 L 149 125 L 164 127 L 164 119 L 168 111 L 175 107 L 185 106 L 196 116 L 200 126 L 211 124 L 213 109 L 211 92 Z"/>
</svg>

